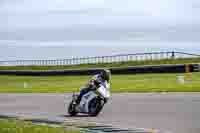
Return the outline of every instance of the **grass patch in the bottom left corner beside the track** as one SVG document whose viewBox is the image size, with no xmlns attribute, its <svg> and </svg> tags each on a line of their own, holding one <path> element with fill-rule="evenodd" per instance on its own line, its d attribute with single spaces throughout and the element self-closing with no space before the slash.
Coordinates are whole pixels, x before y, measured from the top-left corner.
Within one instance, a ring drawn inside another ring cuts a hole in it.
<svg viewBox="0 0 200 133">
<path fill-rule="evenodd" d="M 34 125 L 31 122 L 0 119 L 0 133 L 79 133 L 79 131 L 65 131 L 63 127 Z"/>
</svg>

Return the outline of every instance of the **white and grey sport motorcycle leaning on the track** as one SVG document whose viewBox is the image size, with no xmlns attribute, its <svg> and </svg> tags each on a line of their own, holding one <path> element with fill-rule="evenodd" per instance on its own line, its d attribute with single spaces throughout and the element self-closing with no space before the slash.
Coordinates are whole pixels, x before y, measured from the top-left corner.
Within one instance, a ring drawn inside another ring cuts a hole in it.
<svg viewBox="0 0 200 133">
<path fill-rule="evenodd" d="M 68 106 L 70 116 L 75 116 L 78 113 L 97 116 L 103 109 L 105 103 L 110 98 L 110 84 L 105 82 L 99 85 L 96 90 L 89 91 L 82 96 L 79 104 L 76 104 L 78 95 L 72 95 L 72 101 Z"/>
</svg>

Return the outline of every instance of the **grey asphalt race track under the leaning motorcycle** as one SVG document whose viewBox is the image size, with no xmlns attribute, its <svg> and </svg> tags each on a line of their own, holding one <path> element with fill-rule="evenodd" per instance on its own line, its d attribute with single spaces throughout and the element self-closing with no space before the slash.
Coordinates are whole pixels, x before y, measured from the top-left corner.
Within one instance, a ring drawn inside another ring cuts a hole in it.
<svg viewBox="0 0 200 133">
<path fill-rule="evenodd" d="M 0 115 L 200 133 L 200 93 L 113 94 L 98 117 L 69 117 L 64 103 L 70 99 L 71 94 L 0 94 Z"/>
</svg>

